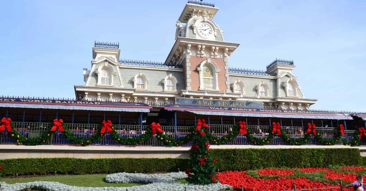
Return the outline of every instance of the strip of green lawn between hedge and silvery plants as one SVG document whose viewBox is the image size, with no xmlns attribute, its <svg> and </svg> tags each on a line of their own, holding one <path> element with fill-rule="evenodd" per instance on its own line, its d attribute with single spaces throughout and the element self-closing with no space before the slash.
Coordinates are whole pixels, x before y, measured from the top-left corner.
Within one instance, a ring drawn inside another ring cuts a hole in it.
<svg viewBox="0 0 366 191">
<path fill-rule="evenodd" d="M 1 182 L 8 184 L 26 183 L 35 181 L 52 181 L 67 184 L 70 186 L 85 186 L 85 187 L 128 187 L 139 186 L 142 183 L 106 183 L 104 182 L 105 174 L 97 175 L 58 175 L 58 176 L 38 176 L 27 178 L 3 178 Z"/>
</svg>

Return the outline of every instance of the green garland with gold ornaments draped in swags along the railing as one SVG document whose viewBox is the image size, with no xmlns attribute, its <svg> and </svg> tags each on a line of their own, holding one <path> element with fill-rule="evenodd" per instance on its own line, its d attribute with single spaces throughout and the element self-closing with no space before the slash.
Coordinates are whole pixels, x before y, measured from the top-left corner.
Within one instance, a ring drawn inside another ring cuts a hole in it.
<svg viewBox="0 0 366 191">
<path fill-rule="evenodd" d="M 100 125 L 100 127 L 98 127 L 98 130 L 96 131 L 96 133 L 94 133 L 93 135 L 91 135 L 90 137 L 87 137 L 87 138 L 76 137 L 72 131 L 67 129 L 67 127 L 64 125 L 64 123 L 61 123 L 61 125 L 64 129 L 64 131 L 62 131 L 63 135 L 66 137 L 66 139 L 68 141 L 71 142 L 71 144 L 87 146 L 87 145 L 93 144 L 94 142 L 102 140 L 103 133 L 100 133 L 102 125 Z M 52 136 L 55 134 L 55 131 L 51 131 L 51 128 L 49 128 L 48 130 L 46 130 L 45 133 L 43 133 L 39 137 L 26 138 L 15 129 L 12 122 L 10 122 L 10 126 L 11 126 L 12 131 L 10 131 L 8 133 L 11 133 L 10 134 L 11 137 L 16 139 L 16 142 L 18 145 L 47 144 L 49 141 L 51 141 Z M 117 143 L 119 143 L 121 145 L 139 145 L 154 136 L 152 133 L 152 129 L 148 128 L 148 129 L 146 129 L 144 134 L 141 134 L 137 137 L 121 137 L 120 134 L 117 133 L 117 130 L 115 130 L 115 127 L 113 125 L 111 125 L 111 127 L 112 127 L 112 131 L 110 131 L 109 133 L 111 134 L 112 140 L 115 140 Z M 208 128 L 206 128 L 206 129 L 208 129 Z M 232 127 L 232 130 L 229 131 L 228 134 L 223 135 L 221 138 L 216 137 L 209 132 L 207 133 L 207 138 L 208 138 L 209 142 L 214 143 L 216 145 L 227 144 L 229 141 L 234 140 L 239 135 L 239 130 L 240 130 L 239 125 L 235 124 Z M 310 141 L 310 138 L 312 136 L 311 133 L 305 133 L 305 135 L 303 137 L 293 138 L 293 137 L 290 137 L 289 135 L 285 134 L 282 129 L 280 129 L 280 131 L 281 131 L 281 135 L 279 135 L 279 136 L 282 138 L 282 140 L 285 143 L 287 143 L 289 145 L 306 144 L 306 142 Z M 0 134 L 3 134 L 3 132 L 0 132 Z M 179 146 L 179 145 L 186 144 L 187 142 L 193 140 L 193 138 L 196 136 L 196 134 L 197 134 L 197 132 L 195 130 L 195 127 L 193 126 L 193 127 L 191 127 L 190 133 L 188 135 L 186 135 L 185 137 L 179 138 L 179 139 L 174 139 L 174 138 L 167 136 L 166 134 L 164 134 L 164 131 L 157 132 L 156 138 L 158 141 L 163 142 L 163 144 L 165 146 Z M 247 140 L 249 142 L 252 142 L 254 145 L 266 145 L 266 144 L 269 144 L 273 140 L 273 138 L 275 138 L 276 132 L 275 133 L 269 132 L 268 136 L 266 136 L 266 137 L 256 137 L 253 135 L 253 133 L 249 129 L 247 129 L 247 133 L 245 134 L 245 136 L 246 136 Z M 350 146 L 359 145 L 359 142 L 361 141 L 359 136 L 360 135 L 358 134 L 358 132 L 356 132 L 351 141 L 342 140 L 342 144 L 350 145 Z M 342 135 L 340 134 L 340 130 L 337 129 L 334 131 L 332 139 L 325 139 L 318 133 L 314 137 L 315 137 L 315 140 L 322 145 L 335 145 L 337 143 L 337 141 L 339 141 L 341 139 Z M 362 139 L 366 140 L 366 136 L 363 136 Z"/>
</svg>

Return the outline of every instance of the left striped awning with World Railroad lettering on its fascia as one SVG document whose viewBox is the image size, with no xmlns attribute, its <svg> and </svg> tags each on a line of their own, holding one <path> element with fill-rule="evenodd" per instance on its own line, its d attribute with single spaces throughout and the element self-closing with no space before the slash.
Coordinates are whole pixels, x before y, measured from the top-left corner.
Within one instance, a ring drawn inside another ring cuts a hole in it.
<svg viewBox="0 0 366 191">
<path fill-rule="evenodd" d="M 4 99 L 0 100 L 0 107 L 126 112 L 150 112 L 150 109 L 152 109 L 151 106 L 144 103 L 130 102 L 92 102 L 75 100 L 41 100 L 15 98 L 5 99 L 6 101 L 4 101 Z"/>
</svg>

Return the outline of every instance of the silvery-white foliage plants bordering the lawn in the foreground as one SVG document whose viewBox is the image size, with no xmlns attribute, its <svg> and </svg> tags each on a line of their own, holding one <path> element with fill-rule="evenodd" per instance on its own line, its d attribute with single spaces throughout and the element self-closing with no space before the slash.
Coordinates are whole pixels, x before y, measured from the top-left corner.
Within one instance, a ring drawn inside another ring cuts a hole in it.
<svg viewBox="0 0 366 191">
<path fill-rule="evenodd" d="M 164 174 L 142 174 L 142 173 L 115 173 L 105 177 L 105 182 L 108 183 L 150 183 L 141 186 L 132 187 L 79 187 L 69 186 L 58 182 L 28 182 L 28 183 L 16 183 L 6 184 L 1 183 L 0 190 L 6 191 L 22 191 L 29 188 L 37 190 L 48 191 L 152 191 L 152 190 L 205 190 L 205 191 L 219 191 L 219 190 L 231 190 L 232 187 L 227 184 L 209 184 L 209 185 L 195 185 L 186 183 L 176 183 L 175 180 L 184 179 L 187 175 L 184 172 L 171 172 Z"/>
</svg>

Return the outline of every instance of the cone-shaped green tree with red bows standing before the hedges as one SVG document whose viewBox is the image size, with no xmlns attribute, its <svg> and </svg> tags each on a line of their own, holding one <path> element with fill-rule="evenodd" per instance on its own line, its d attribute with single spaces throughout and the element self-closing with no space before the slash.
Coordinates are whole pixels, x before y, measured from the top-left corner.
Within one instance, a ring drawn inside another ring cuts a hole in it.
<svg viewBox="0 0 366 191">
<path fill-rule="evenodd" d="M 213 165 L 216 160 L 210 152 L 209 126 L 204 119 L 198 119 L 197 126 L 192 132 L 192 147 L 190 150 L 190 163 L 186 170 L 189 183 L 210 184 L 216 183 L 216 172 Z"/>
</svg>

